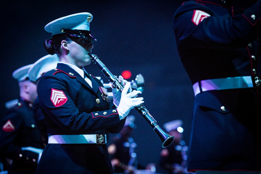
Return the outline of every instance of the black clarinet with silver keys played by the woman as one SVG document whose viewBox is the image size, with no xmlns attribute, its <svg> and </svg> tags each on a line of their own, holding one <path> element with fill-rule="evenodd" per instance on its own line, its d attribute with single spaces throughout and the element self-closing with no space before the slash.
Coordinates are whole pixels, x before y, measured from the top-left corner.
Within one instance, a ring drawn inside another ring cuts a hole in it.
<svg viewBox="0 0 261 174">
<path fill-rule="evenodd" d="M 109 79 L 112 85 L 115 88 L 117 88 L 120 92 L 122 92 L 124 86 L 118 81 L 117 76 L 112 75 L 112 73 L 108 70 L 108 68 L 106 68 L 106 66 L 100 61 L 99 57 L 93 54 L 90 54 L 90 57 L 92 62 L 98 66 L 98 68 Z M 168 135 L 161 127 L 159 127 L 157 121 L 150 115 L 149 111 L 146 109 L 146 107 L 143 104 L 140 104 L 139 106 L 135 106 L 134 108 L 143 116 L 143 118 L 147 121 L 147 123 L 150 124 L 152 129 L 159 136 L 159 138 L 162 141 L 163 148 L 168 147 L 174 141 L 175 137 Z"/>
</svg>

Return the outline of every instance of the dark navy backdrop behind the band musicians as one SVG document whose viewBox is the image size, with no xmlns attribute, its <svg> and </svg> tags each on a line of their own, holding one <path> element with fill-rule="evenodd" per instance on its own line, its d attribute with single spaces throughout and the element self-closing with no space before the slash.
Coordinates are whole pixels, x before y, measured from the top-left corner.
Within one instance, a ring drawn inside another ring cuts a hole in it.
<svg viewBox="0 0 261 174">
<path fill-rule="evenodd" d="M 92 35 L 98 40 L 96 54 L 114 75 L 123 70 L 145 79 L 144 105 L 162 127 L 165 122 L 182 119 L 184 140 L 189 143 L 194 93 L 176 49 L 172 18 L 182 0 L 150 1 L 17 1 L 1 5 L 1 117 L 5 102 L 19 97 L 14 70 L 47 55 L 43 47 L 51 33 L 49 22 L 63 16 L 89 12 Z M 106 77 L 91 64 L 85 69 Z M 157 163 L 162 142 L 143 117 L 133 109 L 137 128 L 133 138 L 138 144 L 141 165 Z"/>
</svg>

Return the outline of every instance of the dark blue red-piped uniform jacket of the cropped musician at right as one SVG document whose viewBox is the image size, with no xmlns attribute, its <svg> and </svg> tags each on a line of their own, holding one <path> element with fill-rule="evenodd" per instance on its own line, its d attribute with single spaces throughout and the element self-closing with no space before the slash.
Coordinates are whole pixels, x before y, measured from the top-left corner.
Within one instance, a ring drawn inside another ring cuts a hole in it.
<svg viewBox="0 0 261 174">
<path fill-rule="evenodd" d="M 175 12 L 177 49 L 192 84 L 260 78 L 261 1 L 247 10 L 234 9 L 231 2 L 188 1 Z M 261 170 L 261 90 L 253 84 L 195 96 L 189 171 Z"/>
</svg>

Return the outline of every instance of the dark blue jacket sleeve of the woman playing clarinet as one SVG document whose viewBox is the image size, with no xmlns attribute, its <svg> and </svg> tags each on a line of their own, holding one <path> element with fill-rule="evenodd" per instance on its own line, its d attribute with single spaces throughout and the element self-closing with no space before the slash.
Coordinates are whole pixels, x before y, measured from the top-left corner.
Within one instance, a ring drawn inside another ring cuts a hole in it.
<svg viewBox="0 0 261 174">
<path fill-rule="evenodd" d="M 95 107 L 93 105 L 95 99 L 88 95 L 86 89 L 81 90 L 79 86 L 63 78 L 66 77 L 44 75 L 39 81 L 39 104 L 45 119 L 47 117 L 49 127 L 59 127 L 69 134 L 88 134 L 121 124 L 116 109 L 101 110 Z M 60 101 L 62 104 L 51 98 L 56 92 L 57 95 L 62 95 L 63 99 Z M 77 103 L 77 107 L 74 102 Z M 80 112 L 78 108 L 84 109 L 85 112 Z"/>
</svg>

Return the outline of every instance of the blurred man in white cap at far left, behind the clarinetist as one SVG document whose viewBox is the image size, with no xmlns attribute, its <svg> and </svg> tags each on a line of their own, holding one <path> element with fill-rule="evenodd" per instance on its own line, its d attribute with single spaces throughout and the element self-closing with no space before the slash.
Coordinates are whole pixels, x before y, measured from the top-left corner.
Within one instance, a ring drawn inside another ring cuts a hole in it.
<svg viewBox="0 0 261 174">
<path fill-rule="evenodd" d="M 44 143 L 34 118 L 32 105 L 37 97 L 36 84 L 28 78 L 30 65 L 13 72 L 18 81 L 20 98 L 11 106 L 1 122 L 0 157 L 8 173 L 34 174 Z M 7 163 L 8 162 L 8 163 Z"/>
</svg>

